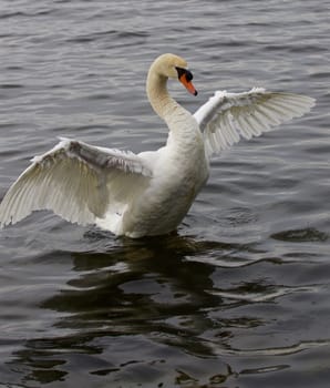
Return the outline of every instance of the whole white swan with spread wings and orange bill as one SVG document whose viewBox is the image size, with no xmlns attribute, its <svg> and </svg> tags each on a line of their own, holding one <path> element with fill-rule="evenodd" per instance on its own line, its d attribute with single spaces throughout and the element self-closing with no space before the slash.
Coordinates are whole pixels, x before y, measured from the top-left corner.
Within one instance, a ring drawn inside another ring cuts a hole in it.
<svg viewBox="0 0 330 388">
<path fill-rule="evenodd" d="M 197 94 L 185 60 L 163 54 L 154 61 L 146 91 L 169 130 L 164 147 L 134 154 L 61 139 L 9 188 L 0 205 L 1 227 L 33 211 L 51 210 L 69 222 L 96 224 L 116 235 L 169 233 L 206 183 L 213 153 L 301 116 L 314 104 L 308 96 L 264 89 L 220 91 L 193 115 L 169 96 L 168 78 Z"/>
</svg>

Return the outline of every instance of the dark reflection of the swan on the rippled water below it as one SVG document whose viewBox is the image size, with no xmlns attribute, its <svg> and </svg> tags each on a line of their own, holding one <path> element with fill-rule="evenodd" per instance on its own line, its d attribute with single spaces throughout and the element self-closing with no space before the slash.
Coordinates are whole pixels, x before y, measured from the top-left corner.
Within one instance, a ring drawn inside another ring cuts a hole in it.
<svg viewBox="0 0 330 388">
<path fill-rule="evenodd" d="M 56 335 L 28 340 L 14 365 L 24 365 L 27 381 L 38 382 L 65 380 L 82 365 L 89 376 L 123 379 L 145 368 L 161 375 L 172 368 L 173 379 L 183 378 L 187 371 L 178 372 L 177 365 L 228 374 L 199 338 L 213 326 L 205 312 L 221 303 L 207 292 L 214 267 L 187 259 L 210 249 L 228 247 L 172 235 L 120 239 L 103 253 L 73 253 L 76 276 L 41 306 L 60 317 L 53 324 Z"/>
</svg>

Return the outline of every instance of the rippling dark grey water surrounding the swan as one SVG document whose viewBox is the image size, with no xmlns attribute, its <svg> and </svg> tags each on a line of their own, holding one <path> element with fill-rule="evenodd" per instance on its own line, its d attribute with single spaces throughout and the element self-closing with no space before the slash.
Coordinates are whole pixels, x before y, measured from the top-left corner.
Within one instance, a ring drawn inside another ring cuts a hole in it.
<svg viewBox="0 0 330 388">
<path fill-rule="evenodd" d="M 176 236 L 33 214 L 0 233 L 0 387 L 328 387 L 329 2 L 1 1 L 0 195 L 56 136 L 155 150 L 149 63 L 317 99 L 213 161 Z"/>
</svg>

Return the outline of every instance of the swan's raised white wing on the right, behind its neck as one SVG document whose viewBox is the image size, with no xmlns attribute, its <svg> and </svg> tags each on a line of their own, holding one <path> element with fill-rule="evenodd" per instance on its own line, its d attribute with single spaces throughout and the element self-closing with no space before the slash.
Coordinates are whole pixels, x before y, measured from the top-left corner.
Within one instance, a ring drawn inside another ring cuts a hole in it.
<svg viewBox="0 0 330 388">
<path fill-rule="evenodd" d="M 270 131 L 274 126 L 307 113 L 314 100 L 292 93 L 267 92 L 254 88 L 249 92 L 218 91 L 194 114 L 207 154 L 219 153 L 239 142 Z"/>
</svg>

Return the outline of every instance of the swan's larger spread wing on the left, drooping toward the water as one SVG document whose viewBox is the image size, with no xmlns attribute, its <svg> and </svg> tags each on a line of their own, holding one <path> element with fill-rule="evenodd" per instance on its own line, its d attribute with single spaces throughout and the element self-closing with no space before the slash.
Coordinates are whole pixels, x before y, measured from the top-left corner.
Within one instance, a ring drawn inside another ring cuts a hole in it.
<svg viewBox="0 0 330 388">
<path fill-rule="evenodd" d="M 0 204 L 0 225 L 14 224 L 37 210 L 51 210 L 82 225 L 118 212 L 152 171 L 131 152 L 107 150 L 61 139 L 32 164 L 9 188 Z"/>
</svg>

